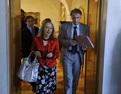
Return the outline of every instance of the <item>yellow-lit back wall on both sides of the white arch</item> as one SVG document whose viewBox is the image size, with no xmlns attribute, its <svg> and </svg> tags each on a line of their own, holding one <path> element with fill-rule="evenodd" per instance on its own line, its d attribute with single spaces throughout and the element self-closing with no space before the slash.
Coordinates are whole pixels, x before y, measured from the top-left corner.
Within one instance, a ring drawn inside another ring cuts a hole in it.
<svg viewBox="0 0 121 94">
<path fill-rule="evenodd" d="M 55 31 L 59 31 L 59 21 L 60 21 L 60 3 L 64 0 L 21 0 L 21 8 L 25 12 L 40 12 L 40 25 L 45 18 L 51 18 Z M 88 12 L 88 0 L 65 0 L 69 11 L 73 8 L 83 7 L 85 11 L 85 22 L 87 22 L 87 12 Z M 66 13 L 70 21 L 69 15 Z"/>
</svg>

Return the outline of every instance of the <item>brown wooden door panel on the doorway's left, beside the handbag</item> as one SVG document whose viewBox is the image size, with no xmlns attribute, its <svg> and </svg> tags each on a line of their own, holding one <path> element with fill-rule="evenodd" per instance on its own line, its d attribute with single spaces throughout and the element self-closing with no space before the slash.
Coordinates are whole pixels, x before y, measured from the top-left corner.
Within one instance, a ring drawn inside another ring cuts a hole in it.
<svg viewBox="0 0 121 94">
<path fill-rule="evenodd" d="M 21 15 L 20 0 L 10 0 L 10 90 L 11 94 L 17 93 L 21 87 L 21 81 L 17 77 L 17 71 L 21 64 Z"/>
</svg>

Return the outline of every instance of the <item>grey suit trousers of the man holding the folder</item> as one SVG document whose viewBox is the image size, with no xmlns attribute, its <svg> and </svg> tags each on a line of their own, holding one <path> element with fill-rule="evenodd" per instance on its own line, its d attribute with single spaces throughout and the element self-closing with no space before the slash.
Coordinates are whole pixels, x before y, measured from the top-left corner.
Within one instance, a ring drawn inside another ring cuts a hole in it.
<svg viewBox="0 0 121 94">
<path fill-rule="evenodd" d="M 67 52 L 63 57 L 64 94 L 76 94 L 81 62 L 78 53 Z"/>
</svg>

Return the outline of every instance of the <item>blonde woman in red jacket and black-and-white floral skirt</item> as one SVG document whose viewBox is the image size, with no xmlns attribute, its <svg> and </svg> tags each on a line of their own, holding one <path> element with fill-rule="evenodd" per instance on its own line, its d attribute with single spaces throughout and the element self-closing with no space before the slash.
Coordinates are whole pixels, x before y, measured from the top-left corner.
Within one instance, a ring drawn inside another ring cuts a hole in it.
<svg viewBox="0 0 121 94">
<path fill-rule="evenodd" d="M 34 37 L 31 51 L 40 63 L 36 82 L 37 94 L 48 94 L 56 90 L 56 59 L 59 57 L 59 43 L 55 38 L 51 20 L 44 20 L 37 37 Z"/>
</svg>

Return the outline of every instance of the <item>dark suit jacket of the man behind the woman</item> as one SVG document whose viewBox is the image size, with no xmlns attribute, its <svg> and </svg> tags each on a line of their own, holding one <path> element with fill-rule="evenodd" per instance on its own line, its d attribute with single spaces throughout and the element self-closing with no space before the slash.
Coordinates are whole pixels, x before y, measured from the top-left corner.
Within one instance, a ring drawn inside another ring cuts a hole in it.
<svg viewBox="0 0 121 94">
<path fill-rule="evenodd" d="M 37 35 L 39 28 L 34 27 L 35 29 L 35 35 Z M 33 36 L 31 32 L 29 31 L 28 27 L 22 30 L 22 58 L 28 57 L 28 55 L 31 52 L 31 46 L 32 46 L 32 41 L 33 41 Z"/>
</svg>

